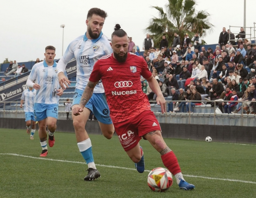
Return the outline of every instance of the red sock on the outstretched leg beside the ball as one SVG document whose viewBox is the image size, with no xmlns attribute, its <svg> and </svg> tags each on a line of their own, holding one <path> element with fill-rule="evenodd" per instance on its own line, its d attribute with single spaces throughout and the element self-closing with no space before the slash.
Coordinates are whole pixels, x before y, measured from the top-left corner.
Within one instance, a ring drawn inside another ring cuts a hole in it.
<svg viewBox="0 0 256 198">
<path fill-rule="evenodd" d="M 181 172 L 181 169 L 179 167 L 178 159 L 176 158 L 174 152 L 169 152 L 167 154 L 164 154 L 161 156 L 162 161 L 164 163 L 164 166 L 169 169 L 169 171 L 176 175 L 177 173 Z"/>
</svg>

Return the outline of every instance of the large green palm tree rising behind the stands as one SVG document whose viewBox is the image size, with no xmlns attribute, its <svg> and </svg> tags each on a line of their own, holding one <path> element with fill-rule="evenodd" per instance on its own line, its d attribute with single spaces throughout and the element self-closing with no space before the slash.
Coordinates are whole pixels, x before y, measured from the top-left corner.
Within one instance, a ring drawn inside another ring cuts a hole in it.
<svg viewBox="0 0 256 198">
<path fill-rule="evenodd" d="M 199 37 L 211 33 L 214 25 L 209 22 L 209 13 L 204 10 L 196 12 L 195 6 L 195 0 L 168 0 L 165 5 L 166 12 L 162 7 L 152 6 L 159 11 L 159 18 L 152 18 L 145 31 L 152 35 L 155 46 L 159 46 L 163 34 L 171 46 L 174 33 L 179 34 L 181 40 L 184 39 L 185 33 L 188 33 L 190 38 L 196 32 Z"/>
</svg>

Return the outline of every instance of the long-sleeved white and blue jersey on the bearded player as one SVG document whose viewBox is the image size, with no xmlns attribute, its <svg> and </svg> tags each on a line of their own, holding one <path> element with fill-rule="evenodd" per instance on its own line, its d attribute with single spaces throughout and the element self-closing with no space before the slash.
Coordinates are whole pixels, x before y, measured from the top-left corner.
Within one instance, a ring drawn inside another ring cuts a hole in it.
<svg viewBox="0 0 256 198">
<path fill-rule="evenodd" d="M 67 47 L 65 54 L 58 62 L 58 73 L 64 72 L 68 62 L 75 57 L 77 61 L 76 88 L 85 90 L 96 61 L 102 56 L 112 53 L 110 42 L 110 39 L 102 32 L 97 39 L 92 40 L 87 39 L 85 32 L 85 35 L 77 37 Z M 101 81 L 94 88 L 93 93 L 104 93 Z"/>
</svg>

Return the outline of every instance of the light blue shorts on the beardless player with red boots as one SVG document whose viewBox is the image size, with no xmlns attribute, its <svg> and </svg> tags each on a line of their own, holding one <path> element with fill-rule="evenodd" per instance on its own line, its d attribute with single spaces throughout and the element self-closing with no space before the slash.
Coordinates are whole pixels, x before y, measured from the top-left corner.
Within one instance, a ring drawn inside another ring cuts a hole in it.
<svg viewBox="0 0 256 198">
<path fill-rule="evenodd" d="M 58 108 L 59 108 L 59 104 L 35 103 L 34 105 L 35 121 L 41 121 L 47 117 L 54 117 L 58 119 Z"/>
</svg>

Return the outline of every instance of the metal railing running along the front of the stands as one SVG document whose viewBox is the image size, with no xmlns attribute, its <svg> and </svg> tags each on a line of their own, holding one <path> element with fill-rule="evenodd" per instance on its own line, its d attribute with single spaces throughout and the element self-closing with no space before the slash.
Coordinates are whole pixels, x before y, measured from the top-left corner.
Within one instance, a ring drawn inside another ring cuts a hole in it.
<svg viewBox="0 0 256 198">
<path fill-rule="evenodd" d="M 65 103 L 67 102 L 66 100 L 60 100 L 60 103 Z M 72 103 L 72 100 L 69 101 L 70 103 Z M 156 101 L 149 101 L 150 103 L 156 103 Z M 234 100 L 229 100 L 229 101 L 216 101 L 216 100 L 171 100 L 171 101 L 166 101 L 166 108 L 167 108 L 167 103 L 173 103 L 173 102 L 186 102 L 186 103 L 189 103 L 189 112 L 187 112 L 187 114 L 189 114 L 189 124 L 191 124 L 191 115 L 192 115 L 192 112 L 191 112 L 191 103 L 214 103 L 214 113 L 205 113 L 206 115 L 213 115 L 214 116 L 214 125 L 216 125 L 216 115 L 220 115 L 218 113 L 216 113 L 216 107 L 218 107 L 218 105 L 216 105 L 216 103 L 243 103 L 242 106 L 241 106 L 241 114 L 236 114 L 236 115 L 240 115 L 241 116 L 241 126 L 243 126 L 243 120 L 244 120 L 244 103 L 245 102 L 251 102 L 251 103 L 256 103 L 256 101 L 234 101 Z M 3 112 L 3 117 L 5 117 L 6 114 L 10 114 L 10 113 L 15 113 L 15 117 L 17 118 L 17 113 L 20 113 L 20 112 L 24 112 L 24 110 L 19 110 L 20 109 L 20 102 L 19 101 L 16 101 L 16 102 L 0 102 L 0 103 L 4 103 L 3 105 L 3 108 L 0 109 L 0 112 Z M 10 105 L 7 105 L 7 104 L 10 104 Z M 10 107 L 12 106 L 13 107 L 13 104 L 15 105 L 15 110 L 7 110 L 6 108 L 7 107 Z M 65 113 L 65 111 L 59 111 L 60 113 Z M 167 123 L 167 117 L 172 114 L 170 112 L 166 112 L 164 113 L 165 115 L 165 122 Z M 246 114 L 247 115 L 247 114 Z M 250 114 L 250 115 L 254 115 L 254 114 Z M 254 115 L 256 116 L 256 115 Z"/>
</svg>

